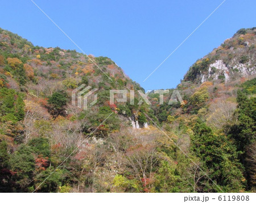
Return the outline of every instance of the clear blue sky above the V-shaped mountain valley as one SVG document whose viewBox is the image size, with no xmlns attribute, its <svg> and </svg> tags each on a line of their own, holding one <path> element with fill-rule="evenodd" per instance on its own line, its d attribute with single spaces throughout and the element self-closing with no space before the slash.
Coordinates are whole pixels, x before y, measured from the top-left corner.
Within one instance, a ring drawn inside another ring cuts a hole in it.
<svg viewBox="0 0 256 203">
<path fill-rule="evenodd" d="M 175 88 L 197 59 L 256 27 L 255 0 L 226 0 L 143 82 L 222 1 L 34 0 L 86 54 L 110 57 L 146 90 Z M 34 45 L 77 49 L 30 0 L 1 1 L 0 27 Z"/>
</svg>

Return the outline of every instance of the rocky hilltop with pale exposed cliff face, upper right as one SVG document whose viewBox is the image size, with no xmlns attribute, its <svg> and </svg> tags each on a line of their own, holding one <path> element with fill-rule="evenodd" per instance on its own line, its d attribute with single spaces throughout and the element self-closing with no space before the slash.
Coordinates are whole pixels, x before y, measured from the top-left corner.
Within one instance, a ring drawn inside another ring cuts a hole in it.
<svg viewBox="0 0 256 203">
<path fill-rule="evenodd" d="M 256 28 L 238 30 L 220 47 L 196 61 L 184 76 L 184 81 L 232 81 L 256 74 Z"/>
</svg>

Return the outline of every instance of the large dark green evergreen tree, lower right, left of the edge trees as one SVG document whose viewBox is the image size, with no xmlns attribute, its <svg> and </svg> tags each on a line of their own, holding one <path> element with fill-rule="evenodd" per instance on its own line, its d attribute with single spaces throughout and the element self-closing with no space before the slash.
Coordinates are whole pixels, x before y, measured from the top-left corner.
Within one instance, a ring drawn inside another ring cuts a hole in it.
<svg viewBox="0 0 256 203">
<path fill-rule="evenodd" d="M 210 171 L 210 177 L 226 191 L 239 192 L 244 188 L 242 165 L 236 146 L 225 135 L 216 135 L 205 123 L 196 123 L 192 136 L 192 151 Z"/>
</svg>

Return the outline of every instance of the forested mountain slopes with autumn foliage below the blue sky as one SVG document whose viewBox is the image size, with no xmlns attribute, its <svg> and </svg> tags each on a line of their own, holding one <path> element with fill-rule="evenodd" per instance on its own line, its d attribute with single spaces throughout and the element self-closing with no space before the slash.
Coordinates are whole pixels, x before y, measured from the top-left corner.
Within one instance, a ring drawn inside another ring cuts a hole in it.
<svg viewBox="0 0 256 203">
<path fill-rule="evenodd" d="M 255 192 L 255 34 L 241 29 L 197 60 L 181 103 L 170 89 L 148 105 L 108 57 L 0 29 L 0 191 Z M 82 84 L 97 89 L 88 110 L 72 105 Z M 127 102 L 110 103 L 113 89 Z"/>
</svg>

